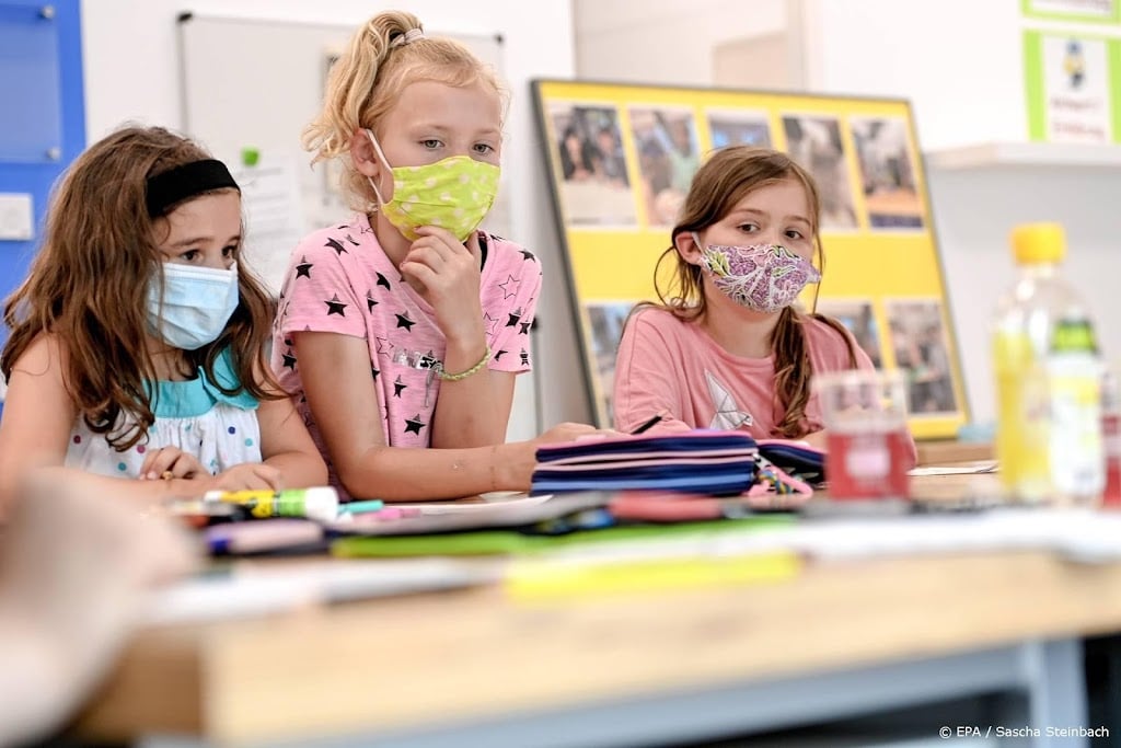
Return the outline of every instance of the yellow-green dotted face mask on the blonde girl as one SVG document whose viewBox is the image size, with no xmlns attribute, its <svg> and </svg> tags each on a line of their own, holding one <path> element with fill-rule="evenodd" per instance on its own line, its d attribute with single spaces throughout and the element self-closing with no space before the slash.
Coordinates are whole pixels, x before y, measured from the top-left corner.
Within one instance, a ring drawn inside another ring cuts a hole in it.
<svg viewBox="0 0 1121 748">
<path fill-rule="evenodd" d="M 378 196 L 378 210 L 406 239 L 416 241 L 419 227 L 435 225 L 466 241 L 494 204 L 500 170 L 493 164 L 470 156 L 452 156 L 424 166 L 393 168 L 381 153 L 373 132 L 367 130 L 381 163 L 393 175 L 393 197 L 386 202 L 373 179 L 367 177 Z"/>
</svg>

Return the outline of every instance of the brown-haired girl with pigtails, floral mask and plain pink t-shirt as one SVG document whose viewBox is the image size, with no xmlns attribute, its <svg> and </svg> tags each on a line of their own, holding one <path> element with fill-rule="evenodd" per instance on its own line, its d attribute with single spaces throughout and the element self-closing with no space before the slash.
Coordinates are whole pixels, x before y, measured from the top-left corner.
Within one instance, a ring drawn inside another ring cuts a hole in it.
<svg viewBox="0 0 1121 748">
<path fill-rule="evenodd" d="M 824 449 L 812 378 L 873 367 L 840 322 L 795 307 L 821 280 L 819 214 L 813 177 L 781 153 L 733 146 L 701 167 L 655 269 L 661 303 L 623 331 L 617 428 L 663 413 L 651 431 L 738 428 Z"/>
</svg>

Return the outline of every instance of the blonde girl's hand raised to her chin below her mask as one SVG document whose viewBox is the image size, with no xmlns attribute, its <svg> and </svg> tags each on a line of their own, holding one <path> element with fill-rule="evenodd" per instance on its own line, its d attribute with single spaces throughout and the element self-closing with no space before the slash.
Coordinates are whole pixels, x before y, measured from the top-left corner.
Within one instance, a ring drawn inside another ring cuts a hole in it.
<svg viewBox="0 0 1121 748">
<path fill-rule="evenodd" d="M 432 305 L 436 324 L 446 338 L 482 340 L 479 234 L 472 233 L 464 246 L 438 227 L 420 227 L 417 233 L 420 238 L 401 260 L 405 281 Z"/>
</svg>

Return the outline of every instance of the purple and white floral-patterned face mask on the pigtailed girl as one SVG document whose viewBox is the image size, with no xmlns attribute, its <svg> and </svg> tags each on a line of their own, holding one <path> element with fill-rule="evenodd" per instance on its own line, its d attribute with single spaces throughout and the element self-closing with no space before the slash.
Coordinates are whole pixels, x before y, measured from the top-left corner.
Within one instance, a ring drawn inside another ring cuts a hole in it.
<svg viewBox="0 0 1121 748">
<path fill-rule="evenodd" d="M 693 239 L 704 247 L 700 237 Z M 754 312 L 778 312 L 794 304 L 806 284 L 822 280 L 809 260 L 781 244 L 708 244 L 701 250 L 701 267 L 716 288 Z"/>
</svg>

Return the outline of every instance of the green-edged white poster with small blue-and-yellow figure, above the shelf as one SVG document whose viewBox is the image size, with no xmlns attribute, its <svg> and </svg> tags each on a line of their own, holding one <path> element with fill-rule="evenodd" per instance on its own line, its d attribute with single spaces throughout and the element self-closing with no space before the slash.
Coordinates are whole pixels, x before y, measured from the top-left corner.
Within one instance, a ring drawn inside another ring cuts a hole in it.
<svg viewBox="0 0 1121 748">
<path fill-rule="evenodd" d="M 1121 39 L 1028 30 L 1023 64 L 1031 140 L 1121 141 Z"/>
</svg>

